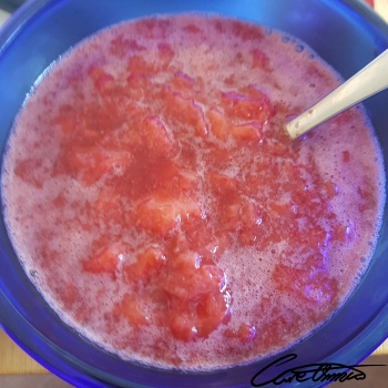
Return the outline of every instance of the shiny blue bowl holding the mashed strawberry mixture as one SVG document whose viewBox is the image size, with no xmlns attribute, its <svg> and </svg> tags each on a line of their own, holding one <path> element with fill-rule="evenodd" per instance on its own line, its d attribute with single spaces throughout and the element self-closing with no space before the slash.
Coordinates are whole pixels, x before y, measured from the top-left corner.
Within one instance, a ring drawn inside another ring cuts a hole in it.
<svg viewBox="0 0 388 388">
<path fill-rule="evenodd" d="M 276 28 L 307 42 L 345 79 L 388 47 L 388 25 L 357 0 L 31 0 L 0 30 L 0 144 L 39 75 L 85 37 L 126 19 L 155 13 L 216 12 Z M 388 161 L 388 92 L 365 105 Z M 388 171 L 387 165 L 385 166 Z M 64 325 L 28 280 L 0 221 L 0 323 L 45 368 L 78 387 L 249 387 L 292 366 L 356 365 L 388 334 L 388 212 L 371 264 L 346 305 L 312 336 L 266 360 L 227 370 L 185 374 L 123 361 Z M 365 370 L 367 374 L 367 370 Z M 298 385 L 295 379 L 292 385 Z M 324 385 L 324 384 L 321 384 Z M 303 387 L 317 387 L 307 380 Z"/>
</svg>

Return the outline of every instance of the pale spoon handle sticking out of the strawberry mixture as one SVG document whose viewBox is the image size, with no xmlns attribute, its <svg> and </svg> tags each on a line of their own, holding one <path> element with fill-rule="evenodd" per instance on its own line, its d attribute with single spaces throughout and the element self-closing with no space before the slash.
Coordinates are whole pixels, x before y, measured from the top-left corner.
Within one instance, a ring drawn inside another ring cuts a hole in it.
<svg viewBox="0 0 388 388">
<path fill-rule="evenodd" d="M 334 92 L 289 123 L 292 139 L 299 137 L 314 126 L 388 88 L 388 50 L 367 64 Z"/>
</svg>

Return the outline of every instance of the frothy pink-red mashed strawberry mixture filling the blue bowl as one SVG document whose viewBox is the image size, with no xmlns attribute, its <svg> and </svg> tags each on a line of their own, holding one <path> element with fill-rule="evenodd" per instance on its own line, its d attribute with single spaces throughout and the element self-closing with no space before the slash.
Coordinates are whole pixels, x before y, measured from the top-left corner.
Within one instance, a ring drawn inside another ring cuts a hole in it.
<svg viewBox="0 0 388 388">
<path fill-rule="evenodd" d="M 303 43 L 226 19 L 140 20 L 81 43 L 9 140 L 6 219 L 27 274 L 125 359 L 206 370 L 300 340 L 357 285 L 382 214 L 361 108 L 303 141 L 284 133 L 338 83 Z"/>
</svg>

